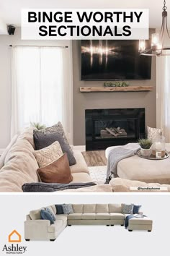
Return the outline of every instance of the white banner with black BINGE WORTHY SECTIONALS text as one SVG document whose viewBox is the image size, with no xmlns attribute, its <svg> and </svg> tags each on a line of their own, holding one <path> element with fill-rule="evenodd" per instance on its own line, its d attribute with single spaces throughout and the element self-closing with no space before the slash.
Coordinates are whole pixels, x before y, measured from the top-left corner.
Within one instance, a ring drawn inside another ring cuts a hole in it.
<svg viewBox="0 0 170 256">
<path fill-rule="evenodd" d="M 22 39 L 148 39 L 148 9 L 23 9 Z"/>
</svg>

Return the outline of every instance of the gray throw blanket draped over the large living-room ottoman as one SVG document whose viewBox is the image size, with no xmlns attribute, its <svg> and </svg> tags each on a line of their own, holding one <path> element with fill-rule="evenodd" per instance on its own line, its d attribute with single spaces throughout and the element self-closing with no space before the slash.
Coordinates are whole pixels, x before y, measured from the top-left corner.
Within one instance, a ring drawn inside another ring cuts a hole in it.
<svg viewBox="0 0 170 256">
<path fill-rule="evenodd" d="M 135 149 L 123 148 L 123 146 L 113 148 L 108 155 L 107 178 L 109 178 L 111 174 L 117 176 L 117 163 L 119 163 L 119 161 L 122 159 L 129 158 L 130 156 L 135 155 L 139 149 L 140 146 Z"/>
</svg>

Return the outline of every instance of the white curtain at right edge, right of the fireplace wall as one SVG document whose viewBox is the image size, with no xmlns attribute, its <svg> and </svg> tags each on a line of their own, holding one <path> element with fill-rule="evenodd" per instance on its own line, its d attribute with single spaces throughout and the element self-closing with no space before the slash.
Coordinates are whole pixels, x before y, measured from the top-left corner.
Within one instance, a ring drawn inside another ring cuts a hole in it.
<svg viewBox="0 0 170 256">
<path fill-rule="evenodd" d="M 169 54 L 168 51 L 166 51 Z M 163 130 L 166 142 L 170 142 L 170 56 L 157 59 L 157 127 Z"/>
</svg>

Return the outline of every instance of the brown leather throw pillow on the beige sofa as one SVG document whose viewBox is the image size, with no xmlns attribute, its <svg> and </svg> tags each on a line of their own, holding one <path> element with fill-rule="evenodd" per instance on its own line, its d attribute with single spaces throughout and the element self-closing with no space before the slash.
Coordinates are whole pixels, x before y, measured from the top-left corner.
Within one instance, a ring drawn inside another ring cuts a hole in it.
<svg viewBox="0 0 170 256">
<path fill-rule="evenodd" d="M 45 183 L 67 184 L 73 180 L 66 153 L 48 166 L 38 168 L 37 173 L 41 181 Z"/>
</svg>

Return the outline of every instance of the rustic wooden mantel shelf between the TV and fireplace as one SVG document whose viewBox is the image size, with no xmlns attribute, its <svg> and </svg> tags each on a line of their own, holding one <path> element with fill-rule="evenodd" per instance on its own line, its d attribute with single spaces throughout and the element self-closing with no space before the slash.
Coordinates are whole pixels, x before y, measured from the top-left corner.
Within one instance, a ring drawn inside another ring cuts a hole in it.
<svg viewBox="0 0 170 256">
<path fill-rule="evenodd" d="M 80 87 L 81 93 L 102 93 L 102 92 L 146 92 L 151 91 L 153 86 L 128 86 L 128 87 L 102 87 L 102 86 L 92 86 L 92 87 Z"/>
</svg>

